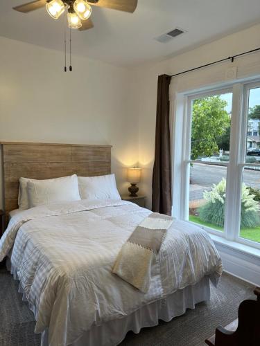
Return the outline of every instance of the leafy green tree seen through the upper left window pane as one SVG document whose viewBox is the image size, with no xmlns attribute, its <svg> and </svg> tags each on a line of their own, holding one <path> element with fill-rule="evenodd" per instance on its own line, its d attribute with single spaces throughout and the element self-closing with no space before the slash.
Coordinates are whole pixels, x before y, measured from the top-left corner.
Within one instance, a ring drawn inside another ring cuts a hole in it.
<svg viewBox="0 0 260 346">
<path fill-rule="evenodd" d="M 218 152 L 218 139 L 227 135 L 230 127 L 230 117 L 225 107 L 227 107 L 227 101 L 221 100 L 219 95 L 193 101 L 192 160 Z"/>
</svg>

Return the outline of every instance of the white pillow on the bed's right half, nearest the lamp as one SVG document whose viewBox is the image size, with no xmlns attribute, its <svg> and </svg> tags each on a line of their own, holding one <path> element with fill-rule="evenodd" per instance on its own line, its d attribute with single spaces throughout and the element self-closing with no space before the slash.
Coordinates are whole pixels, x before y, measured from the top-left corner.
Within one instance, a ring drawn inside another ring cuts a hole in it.
<svg viewBox="0 0 260 346">
<path fill-rule="evenodd" d="M 81 199 L 121 199 L 114 174 L 78 176 Z"/>
</svg>

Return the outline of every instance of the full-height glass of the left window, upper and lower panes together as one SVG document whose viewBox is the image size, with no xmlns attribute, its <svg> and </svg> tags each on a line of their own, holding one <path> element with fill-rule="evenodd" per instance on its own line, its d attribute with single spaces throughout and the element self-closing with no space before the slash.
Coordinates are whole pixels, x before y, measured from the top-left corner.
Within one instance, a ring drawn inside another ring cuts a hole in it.
<svg viewBox="0 0 260 346">
<path fill-rule="evenodd" d="M 189 221 L 221 232 L 225 221 L 223 188 L 229 162 L 231 111 L 229 91 L 191 98 Z"/>
</svg>

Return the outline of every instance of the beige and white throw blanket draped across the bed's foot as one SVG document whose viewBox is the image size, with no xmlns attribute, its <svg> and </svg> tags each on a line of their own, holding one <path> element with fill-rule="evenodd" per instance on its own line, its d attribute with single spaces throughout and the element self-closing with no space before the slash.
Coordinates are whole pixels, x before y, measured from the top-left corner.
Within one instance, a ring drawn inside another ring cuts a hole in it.
<svg viewBox="0 0 260 346">
<path fill-rule="evenodd" d="M 153 212 L 144 219 L 123 245 L 112 272 L 146 293 L 150 287 L 150 271 L 159 253 L 173 217 Z"/>
</svg>

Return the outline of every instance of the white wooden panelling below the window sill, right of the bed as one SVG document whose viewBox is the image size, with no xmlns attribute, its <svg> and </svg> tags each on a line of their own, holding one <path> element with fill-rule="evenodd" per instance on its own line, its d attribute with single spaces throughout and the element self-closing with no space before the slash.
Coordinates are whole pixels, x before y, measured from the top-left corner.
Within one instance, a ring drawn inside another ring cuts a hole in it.
<svg viewBox="0 0 260 346">
<path fill-rule="evenodd" d="M 234 248 L 215 243 L 223 261 L 224 271 L 260 286 L 260 258 L 252 254 L 241 253 Z"/>
</svg>

